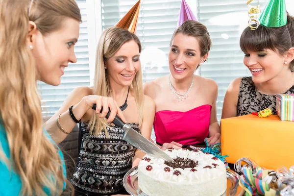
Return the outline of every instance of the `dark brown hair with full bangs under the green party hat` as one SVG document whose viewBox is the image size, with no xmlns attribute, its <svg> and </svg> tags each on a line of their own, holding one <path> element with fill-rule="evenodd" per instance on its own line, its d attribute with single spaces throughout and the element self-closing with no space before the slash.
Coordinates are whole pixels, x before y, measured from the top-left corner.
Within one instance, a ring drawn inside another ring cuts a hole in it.
<svg viewBox="0 0 294 196">
<path fill-rule="evenodd" d="M 294 17 L 287 13 L 287 25 L 285 26 L 272 28 L 259 25 L 255 30 L 247 26 L 240 38 L 240 48 L 243 52 L 271 49 L 282 56 L 294 46 L 293 41 Z M 294 71 L 294 61 L 291 61 L 289 66 L 291 71 Z"/>
</svg>

